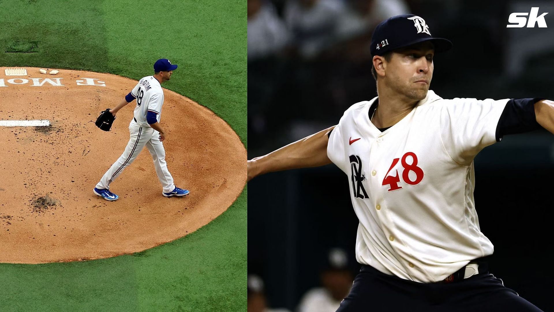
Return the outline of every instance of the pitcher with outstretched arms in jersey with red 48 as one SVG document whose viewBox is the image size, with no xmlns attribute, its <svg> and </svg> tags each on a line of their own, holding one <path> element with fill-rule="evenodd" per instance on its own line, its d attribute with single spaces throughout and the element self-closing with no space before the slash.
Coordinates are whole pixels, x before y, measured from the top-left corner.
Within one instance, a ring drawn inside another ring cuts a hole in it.
<svg viewBox="0 0 554 312">
<path fill-rule="evenodd" d="M 348 175 L 362 269 L 338 312 L 540 311 L 488 271 L 473 159 L 506 134 L 554 133 L 554 102 L 441 98 L 429 89 L 433 57 L 451 47 L 419 16 L 387 19 L 371 42 L 378 96 L 248 161 L 248 180 L 331 162 Z"/>
</svg>

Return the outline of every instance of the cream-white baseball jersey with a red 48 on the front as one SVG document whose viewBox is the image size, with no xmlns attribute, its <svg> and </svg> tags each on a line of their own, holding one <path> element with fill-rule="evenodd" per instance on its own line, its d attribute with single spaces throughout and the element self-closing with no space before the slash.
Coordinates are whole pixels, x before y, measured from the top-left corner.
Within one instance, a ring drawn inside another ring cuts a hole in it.
<svg viewBox="0 0 554 312">
<path fill-rule="evenodd" d="M 327 145 L 350 180 L 357 261 L 430 283 L 493 254 L 475 212 L 473 159 L 496 142 L 509 99 L 443 99 L 429 90 L 384 132 L 368 117 L 376 99 L 347 109 Z"/>
</svg>

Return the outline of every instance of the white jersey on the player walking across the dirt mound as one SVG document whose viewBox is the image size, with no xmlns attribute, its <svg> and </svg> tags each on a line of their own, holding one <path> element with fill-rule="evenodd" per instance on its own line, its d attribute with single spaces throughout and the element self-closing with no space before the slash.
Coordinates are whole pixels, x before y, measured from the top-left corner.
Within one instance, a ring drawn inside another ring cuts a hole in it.
<svg viewBox="0 0 554 312">
<path fill-rule="evenodd" d="M 146 76 L 139 80 L 131 94 L 136 97 L 135 119 L 141 127 L 150 127 L 146 120 L 148 112 L 156 113 L 160 122 L 163 104 L 163 90 L 160 82 L 154 76 Z"/>
</svg>

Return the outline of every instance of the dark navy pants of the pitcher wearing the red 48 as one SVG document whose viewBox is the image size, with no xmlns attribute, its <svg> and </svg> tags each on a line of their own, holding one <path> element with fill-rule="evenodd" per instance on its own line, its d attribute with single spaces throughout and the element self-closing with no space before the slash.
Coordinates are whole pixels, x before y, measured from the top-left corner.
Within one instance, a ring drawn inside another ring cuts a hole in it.
<svg viewBox="0 0 554 312">
<path fill-rule="evenodd" d="M 363 265 L 337 312 L 542 312 L 502 280 L 479 274 L 452 283 L 418 283 Z"/>
</svg>

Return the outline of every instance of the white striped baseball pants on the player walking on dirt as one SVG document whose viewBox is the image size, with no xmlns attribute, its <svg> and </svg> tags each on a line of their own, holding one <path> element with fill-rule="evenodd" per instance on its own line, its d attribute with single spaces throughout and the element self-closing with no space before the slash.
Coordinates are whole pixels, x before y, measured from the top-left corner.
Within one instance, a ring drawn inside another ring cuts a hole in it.
<svg viewBox="0 0 554 312">
<path fill-rule="evenodd" d="M 146 145 L 148 152 L 152 155 L 156 174 L 162 183 L 163 192 L 169 193 L 175 189 L 173 177 L 171 177 L 171 173 L 167 170 L 166 151 L 163 149 L 163 144 L 160 141 L 160 132 L 150 127 L 140 127 L 135 122 L 135 119 L 131 119 L 129 133 L 130 139 L 125 152 L 111 165 L 110 169 L 100 179 L 100 182 L 96 184 L 96 188 L 110 189 L 110 183 L 119 177 L 123 169 L 134 162 L 142 148 Z"/>
</svg>

